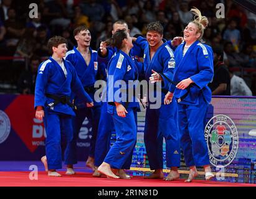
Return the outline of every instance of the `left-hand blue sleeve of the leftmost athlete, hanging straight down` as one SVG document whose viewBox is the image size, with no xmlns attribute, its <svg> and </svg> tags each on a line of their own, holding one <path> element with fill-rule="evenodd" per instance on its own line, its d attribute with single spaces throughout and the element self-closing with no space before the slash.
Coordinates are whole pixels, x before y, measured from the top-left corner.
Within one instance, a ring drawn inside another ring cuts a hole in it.
<svg viewBox="0 0 256 199">
<path fill-rule="evenodd" d="M 45 104 L 45 86 L 50 77 L 50 64 L 49 60 L 41 63 L 38 67 L 37 71 L 37 78 L 36 78 L 36 88 L 35 88 L 35 104 L 34 108 L 36 109 L 37 106 L 44 107 Z M 48 65 L 47 65 L 48 63 Z"/>
</svg>

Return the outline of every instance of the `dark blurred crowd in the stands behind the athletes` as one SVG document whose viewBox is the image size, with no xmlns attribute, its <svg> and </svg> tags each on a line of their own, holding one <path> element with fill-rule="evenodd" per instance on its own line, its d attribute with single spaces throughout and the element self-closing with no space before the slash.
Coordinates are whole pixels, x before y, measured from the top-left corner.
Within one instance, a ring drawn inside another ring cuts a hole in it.
<svg viewBox="0 0 256 199">
<path fill-rule="evenodd" d="M 112 24 L 124 19 L 130 35 L 146 35 L 146 25 L 160 21 L 164 38 L 182 36 L 191 21 L 191 7 L 209 19 L 203 40 L 224 50 L 227 69 L 244 79 L 256 95 L 256 15 L 233 1 L 218 0 L 0 0 L 0 92 L 33 94 L 36 70 L 49 57 L 47 40 L 62 35 L 75 45 L 72 31 L 87 25 L 91 47 L 111 37 Z M 38 5 L 38 17 L 29 18 L 29 4 Z M 216 18 L 216 4 L 225 5 L 225 17 Z"/>
</svg>

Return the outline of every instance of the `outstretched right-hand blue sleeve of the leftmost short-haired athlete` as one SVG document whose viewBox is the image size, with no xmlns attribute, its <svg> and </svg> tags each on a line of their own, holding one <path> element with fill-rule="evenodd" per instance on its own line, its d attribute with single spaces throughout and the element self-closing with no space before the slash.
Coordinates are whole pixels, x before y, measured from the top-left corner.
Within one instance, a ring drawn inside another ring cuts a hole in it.
<svg viewBox="0 0 256 199">
<path fill-rule="evenodd" d="M 71 65 L 71 63 L 70 63 Z M 71 88 L 73 93 L 78 96 L 78 98 L 82 99 L 83 101 L 86 101 L 87 103 L 91 103 L 93 100 L 88 95 L 88 93 L 84 90 L 83 85 L 81 81 L 78 78 L 77 72 L 75 71 L 75 68 L 73 65 L 71 65 L 72 68 L 72 81 L 71 81 Z"/>
</svg>

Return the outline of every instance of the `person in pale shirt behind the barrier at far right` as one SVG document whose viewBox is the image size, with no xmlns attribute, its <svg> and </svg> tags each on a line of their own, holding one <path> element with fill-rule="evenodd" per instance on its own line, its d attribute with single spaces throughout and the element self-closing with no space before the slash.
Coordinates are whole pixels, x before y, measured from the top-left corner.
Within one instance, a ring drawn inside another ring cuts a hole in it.
<svg viewBox="0 0 256 199">
<path fill-rule="evenodd" d="M 252 91 L 240 76 L 230 71 L 230 94 L 233 96 L 252 96 Z"/>
</svg>

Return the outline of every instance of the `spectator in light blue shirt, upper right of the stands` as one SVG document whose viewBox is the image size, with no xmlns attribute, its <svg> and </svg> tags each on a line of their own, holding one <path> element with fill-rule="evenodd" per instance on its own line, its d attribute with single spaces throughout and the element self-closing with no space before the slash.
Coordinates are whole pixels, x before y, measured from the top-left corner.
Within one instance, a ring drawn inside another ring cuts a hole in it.
<svg viewBox="0 0 256 199">
<path fill-rule="evenodd" d="M 237 28 L 237 22 L 235 19 L 231 19 L 227 22 L 227 29 L 224 31 L 223 39 L 226 42 L 232 42 L 235 52 L 239 52 L 239 45 L 241 34 Z"/>
</svg>

